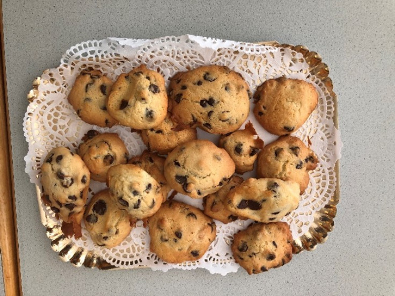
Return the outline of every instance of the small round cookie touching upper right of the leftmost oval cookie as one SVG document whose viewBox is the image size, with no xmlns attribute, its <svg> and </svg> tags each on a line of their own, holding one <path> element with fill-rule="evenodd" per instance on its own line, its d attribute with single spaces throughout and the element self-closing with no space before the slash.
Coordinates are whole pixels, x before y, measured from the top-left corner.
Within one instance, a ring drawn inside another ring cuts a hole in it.
<svg viewBox="0 0 395 296">
<path fill-rule="evenodd" d="M 82 140 L 78 154 L 88 167 L 92 180 L 106 182 L 110 167 L 127 162 L 128 152 L 118 134 L 99 134 L 90 130 Z"/>
</svg>

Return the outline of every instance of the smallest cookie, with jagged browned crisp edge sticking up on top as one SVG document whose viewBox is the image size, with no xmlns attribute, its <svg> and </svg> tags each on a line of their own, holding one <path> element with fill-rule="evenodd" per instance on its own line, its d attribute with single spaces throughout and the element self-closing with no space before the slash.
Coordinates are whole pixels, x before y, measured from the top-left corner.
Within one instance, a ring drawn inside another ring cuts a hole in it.
<svg viewBox="0 0 395 296">
<path fill-rule="evenodd" d="M 223 135 L 219 140 L 219 147 L 224 148 L 235 162 L 237 174 L 254 169 L 254 162 L 263 144 L 251 122 L 243 130 Z"/>
</svg>

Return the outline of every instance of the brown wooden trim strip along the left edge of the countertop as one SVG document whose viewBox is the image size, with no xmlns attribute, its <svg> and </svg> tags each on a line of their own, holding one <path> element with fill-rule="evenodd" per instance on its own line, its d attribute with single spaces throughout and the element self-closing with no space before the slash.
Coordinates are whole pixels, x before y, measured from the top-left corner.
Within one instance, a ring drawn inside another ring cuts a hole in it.
<svg viewBox="0 0 395 296">
<path fill-rule="evenodd" d="M 0 247 L 6 296 L 22 295 L 0 1 Z"/>
</svg>

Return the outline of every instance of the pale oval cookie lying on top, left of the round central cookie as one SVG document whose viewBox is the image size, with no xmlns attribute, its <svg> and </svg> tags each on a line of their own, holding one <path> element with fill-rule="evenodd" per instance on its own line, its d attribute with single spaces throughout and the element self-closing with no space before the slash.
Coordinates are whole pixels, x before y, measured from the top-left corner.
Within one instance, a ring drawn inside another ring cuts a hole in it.
<svg viewBox="0 0 395 296">
<path fill-rule="evenodd" d="M 154 215 L 163 201 L 158 182 L 134 164 L 118 164 L 107 173 L 111 198 L 135 219 Z"/>
</svg>

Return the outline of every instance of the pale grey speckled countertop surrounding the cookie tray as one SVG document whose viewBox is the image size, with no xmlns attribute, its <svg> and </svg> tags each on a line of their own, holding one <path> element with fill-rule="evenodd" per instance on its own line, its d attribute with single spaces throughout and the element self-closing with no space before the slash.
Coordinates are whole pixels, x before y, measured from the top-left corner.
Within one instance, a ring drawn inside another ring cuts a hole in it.
<svg viewBox="0 0 395 296">
<path fill-rule="evenodd" d="M 3 1 L 19 254 L 25 296 L 395 295 L 395 1 Z M 344 143 L 335 229 L 270 272 L 99 271 L 64 263 L 40 224 L 24 173 L 22 122 L 32 80 L 70 46 L 105 37 L 193 34 L 277 40 L 319 52 L 339 99 Z"/>
</svg>

